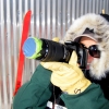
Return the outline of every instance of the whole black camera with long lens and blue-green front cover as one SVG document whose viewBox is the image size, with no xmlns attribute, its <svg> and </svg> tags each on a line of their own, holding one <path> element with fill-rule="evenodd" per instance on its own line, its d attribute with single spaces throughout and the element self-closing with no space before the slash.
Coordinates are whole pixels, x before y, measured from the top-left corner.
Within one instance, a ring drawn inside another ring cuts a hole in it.
<svg viewBox="0 0 109 109">
<path fill-rule="evenodd" d="M 80 68 L 86 69 L 87 51 L 78 43 L 65 41 L 60 44 L 49 39 L 28 37 L 23 45 L 23 53 L 26 58 L 44 62 L 69 62 L 73 50 L 77 55 Z"/>
</svg>

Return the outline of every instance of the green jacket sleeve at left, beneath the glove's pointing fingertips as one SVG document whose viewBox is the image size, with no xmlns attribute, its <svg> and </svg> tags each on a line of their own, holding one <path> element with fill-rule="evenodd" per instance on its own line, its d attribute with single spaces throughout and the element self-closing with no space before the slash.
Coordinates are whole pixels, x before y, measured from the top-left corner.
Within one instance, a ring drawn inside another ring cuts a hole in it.
<svg viewBox="0 0 109 109">
<path fill-rule="evenodd" d="M 13 109 L 45 109 L 51 96 L 51 72 L 39 65 L 13 99 Z"/>
</svg>

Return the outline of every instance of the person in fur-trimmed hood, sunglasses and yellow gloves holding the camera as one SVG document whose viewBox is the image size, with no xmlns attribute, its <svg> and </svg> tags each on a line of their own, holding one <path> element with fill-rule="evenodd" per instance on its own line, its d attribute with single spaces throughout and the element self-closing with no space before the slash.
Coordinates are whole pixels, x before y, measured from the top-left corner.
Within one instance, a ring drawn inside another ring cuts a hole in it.
<svg viewBox="0 0 109 109">
<path fill-rule="evenodd" d="M 86 49 L 86 69 L 80 68 L 75 51 L 69 63 L 40 62 L 15 95 L 13 109 L 55 109 L 56 104 L 56 109 L 108 109 L 108 20 L 109 15 L 95 13 L 75 20 L 63 41 L 76 41 Z"/>
</svg>

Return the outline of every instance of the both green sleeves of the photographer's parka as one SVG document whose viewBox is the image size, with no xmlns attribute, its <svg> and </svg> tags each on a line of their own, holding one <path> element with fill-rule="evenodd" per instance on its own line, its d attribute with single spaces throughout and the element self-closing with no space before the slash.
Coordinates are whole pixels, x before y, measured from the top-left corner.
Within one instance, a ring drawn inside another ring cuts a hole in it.
<svg viewBox="0 0 109 109">
<path fill-rule="evenodd" d="M 46 109 L 52 95 L 51 71 L 38 65 L 29 82 L 25 83 L 13 99 L 13 109 Z M 92 85 L 78 95 L 62 93 L 61 99 L 68 109 L 109 109 L 98 84 Z"/>
</svg>

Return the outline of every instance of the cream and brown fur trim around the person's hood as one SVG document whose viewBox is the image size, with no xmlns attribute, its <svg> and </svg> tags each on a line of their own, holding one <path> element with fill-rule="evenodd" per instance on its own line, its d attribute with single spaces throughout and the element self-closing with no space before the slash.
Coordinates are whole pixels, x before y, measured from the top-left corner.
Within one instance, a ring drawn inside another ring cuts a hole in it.
<svg viewBox="0 0 109 109">
<path fill-rule="evenodd" d="M 90 75 L 100 80 L 109 71 L 109 22 L 100 14 L 83 15 L 73 22 L 63 40 L 73 40 L 86 28 L 93 29 L 94 38 L 98 41 L 98 48 L 101 51 L 100 59 L 94 58 L 89 68 Z"/>
</svg>

